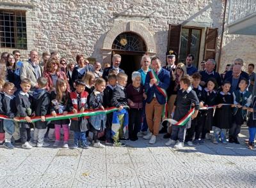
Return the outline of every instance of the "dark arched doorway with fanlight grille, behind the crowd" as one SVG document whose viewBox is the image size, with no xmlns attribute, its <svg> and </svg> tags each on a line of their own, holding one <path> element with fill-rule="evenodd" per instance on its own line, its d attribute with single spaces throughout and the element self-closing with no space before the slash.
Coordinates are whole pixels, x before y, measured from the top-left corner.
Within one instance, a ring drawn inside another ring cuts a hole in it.
<svg viewBox="0 0 256 188">
<path fill-rule="evenodd" d="M 147 52 L 145 41 L 136 33 L 124 32 L 116 36 L 112 50 L 112 55 L 121 55 L 120 68 L 124 69 L 128 83 L 131 83 L 132 72 L 140 69 L 141 57 Z"/>
</svg>

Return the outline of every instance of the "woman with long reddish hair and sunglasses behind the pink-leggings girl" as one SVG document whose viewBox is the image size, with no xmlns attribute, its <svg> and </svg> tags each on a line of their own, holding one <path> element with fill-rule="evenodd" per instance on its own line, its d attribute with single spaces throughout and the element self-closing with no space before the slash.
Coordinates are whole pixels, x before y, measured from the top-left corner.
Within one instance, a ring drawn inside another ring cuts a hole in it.
<svg viewBox="0 0 256 188">
<path fill-rule="evenodd" d="M 60 70 L 60 62 L 58 59 L 48 59 L 46 64 L 46 69 L 44 71 L 44 77 L 47 78 L 47 86 L 46 89 L 48 91 L 55 90 L 56 82 L 59 78 L 65 80 L 67 82 L 67 76 L 63 71 Z M 67 82 L 67 89 L 70 91 L 69 84 Z"/>
</svg>

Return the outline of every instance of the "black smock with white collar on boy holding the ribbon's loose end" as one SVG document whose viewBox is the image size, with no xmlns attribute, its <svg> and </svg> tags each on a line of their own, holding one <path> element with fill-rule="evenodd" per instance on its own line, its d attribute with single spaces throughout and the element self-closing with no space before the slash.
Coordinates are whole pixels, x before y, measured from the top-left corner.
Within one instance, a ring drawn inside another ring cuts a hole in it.
<svg viewBox="0 0 256 188">
<path fill-rule="evenodd" d="M 189 110 L 191 110 L 192 104 L 195 105 L 195 110 L 199 109 L 199 101 L 196 96 L 195 90 L 192 90 L 191 87 L 189 87 L 187 90 L 183 91 L 180 89 L 177 93 L 177 97 L 174 102 L 175 112 L 173 115 L 173 119 L 179 121 L 187 115 Z"/>
</svg>

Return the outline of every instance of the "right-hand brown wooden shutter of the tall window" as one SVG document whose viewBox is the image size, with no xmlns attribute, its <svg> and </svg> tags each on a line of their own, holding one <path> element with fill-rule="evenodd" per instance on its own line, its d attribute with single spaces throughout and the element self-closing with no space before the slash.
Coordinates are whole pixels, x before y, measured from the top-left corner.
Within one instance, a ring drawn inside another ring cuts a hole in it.
<svg viewBox="0 0 256 188">
<path fill-rule="evenodd" d="M 215 59 L 218 28 L 207 27 L 205 34 L 204 60 Z"/>
</svg>

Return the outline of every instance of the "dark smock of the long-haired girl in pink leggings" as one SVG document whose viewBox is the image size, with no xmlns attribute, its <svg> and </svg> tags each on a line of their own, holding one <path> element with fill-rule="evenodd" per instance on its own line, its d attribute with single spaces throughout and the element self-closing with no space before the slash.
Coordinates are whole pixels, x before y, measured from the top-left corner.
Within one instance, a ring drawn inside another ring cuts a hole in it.
<svg viewBox="0 0 256 188">
<path fill-rule="evenodd" d="M 54 103 L 52 103 L 52 100 L 56 99 L 56 96 L 57 96 L 56 91 L 53 90 L 50 94 L 50 98 L 51 98 L 50 112 L 52 113 L 54 111 L 56 113 L 60 113 L 59 108 L 61 108 L 62 112 L 67 111 L 67 101 L 69 99 L 69 94 L 67 93 L 67 96 L 63 96 L 61 102 L 58 105 L 54 105 Z M 69 119 L 51 121 L 51 124 L 58 124 L 58 125 L 64 125 L 69 123 L 70 123 Z"/>
</svg>

